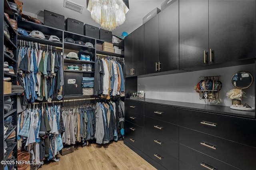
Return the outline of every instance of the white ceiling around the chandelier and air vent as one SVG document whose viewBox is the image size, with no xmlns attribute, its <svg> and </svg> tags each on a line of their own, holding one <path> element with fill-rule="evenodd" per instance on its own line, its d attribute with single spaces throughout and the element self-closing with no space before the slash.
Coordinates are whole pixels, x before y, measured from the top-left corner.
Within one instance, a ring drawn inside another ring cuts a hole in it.
<svg viewBox="0 0 256 170">
<path fill-rule="evenodd" d="M 57 14 L 63 15 L 66 18 L 73 18 L 89 25 L 94 25 L 100 27 L 94 20 L 92 20 L 90 12 L 86 9 L 86 0 L 71 0 L 77 4 L 84 6 L 82 14 L 72 11 L 70 9 L 64 8 L 64 0 L 22 0 L 23 2 L 23 12 L 32 16 L 32 14 L 38 15 L 37 18 L 43 19 L 44 10 L 55 12 Z M 126 20 L 124 24 L 116 27 L 112 31 L 113 35 L 121 35 L 123 31 L 131 33 L 140 25 L 142 25 L 142 18 L 146 16 L 154 8 L 161 9 L 161 4 L 164 0 L 129 0 L 130 10 L 126 14 Z M 32 16 L 34 17 L 34 16 Z"/>
</svg>

